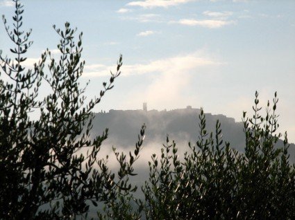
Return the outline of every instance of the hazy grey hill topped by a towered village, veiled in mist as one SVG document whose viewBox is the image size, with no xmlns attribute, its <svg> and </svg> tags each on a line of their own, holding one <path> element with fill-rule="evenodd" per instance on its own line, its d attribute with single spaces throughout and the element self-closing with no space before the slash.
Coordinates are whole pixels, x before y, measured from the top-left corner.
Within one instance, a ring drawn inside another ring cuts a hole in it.
<svg viewBox="0 0 295 220">
<path fill-rule="evenodd" d="M 133 149 L 140 127 L 145 123 L 146 138 L 143 146 L 149 148 L 149 154 L 158 152 L 162 143 L 165 143 L 167 135 L 170 140 L 175 140 L 181 154 L 189 150 L 187 147 L 189 142 L 195 144 L 198 139 L 200 112 L 200 109 L 188 106 L 185 109 L 171 111 L 147 111 L 145 107 L 140 110 L 110 110 L 108 113 L 95 113 L 92 136 L 102 134 L 108 128 L 109 136 L 105 142 L 105 145 L 108 145 L 108 153 L 111 151 L 110 146 L 119 149 Z M 213 131 L 214 134 L 216 121 L 219 120 L 224 141 L 229 142 L 230 146 L 239 152 L 244 152 L 245 136 L 242 122 L 235 122 L 234 118 L 221 114 L 205 113 L 205 118 L 206 129 L 209 133 Z M 283 146 L 283 141 L 278 142 L 279 146 Z M 151 157 L 145 154 L 143 157 L 149 161 Z M 290 161 L 294 162 L 294 144 L 290 145 L 289 154 L 291 155 Z"/>
</svg>

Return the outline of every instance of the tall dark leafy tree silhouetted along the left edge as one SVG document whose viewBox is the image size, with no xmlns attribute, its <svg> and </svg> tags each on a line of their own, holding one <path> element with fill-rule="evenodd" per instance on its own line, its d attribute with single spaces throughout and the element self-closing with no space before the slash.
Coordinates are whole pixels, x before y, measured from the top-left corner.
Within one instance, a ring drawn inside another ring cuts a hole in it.
<svg viewBox="0 0 295 220">
<path fill-rule="evenodd" d="M 40 62 L 26 69 L 25 55 L 33 43 L 29 41 L 31 30 L 22 30 L 24 9 L 19 0 L 13 1 L 12 29 L 4 16 L 3 23 L 15 45 L 10 49 L 15 57 L 0 53 L 0 219 L 87 217 L 90 205 L 114 201 L 118 191 L 136 190 L 128 183 L 128 176 L 133 175 L 145 126 L 135 152 L 128 158 L 123 153 L 118 157 L 117 175 L 108 169 L 108 157 L 99 158 L 108 129 L 90 140 L 92 110 L 120 75 L 122 57 L 117 72 L 111 72 L 109 82 L 103 82 L 99 97 L 86 103 L 83 93 L 87 85 L 79 84 L 85 64 L 81 61 L 83 34 L 75 42 L 76 30 L 69 23 L 64 30 L 53 26 L 60 36 L 60 59 L 54 59 L 47 49 Z M 51 91 L 40 98 L 44 83 Z M 39 114 L 37 120 L 31 119 L 33 111 Z M 81 149 L 87 149 L 87 154 L 81 154 Z"/>
</svg>

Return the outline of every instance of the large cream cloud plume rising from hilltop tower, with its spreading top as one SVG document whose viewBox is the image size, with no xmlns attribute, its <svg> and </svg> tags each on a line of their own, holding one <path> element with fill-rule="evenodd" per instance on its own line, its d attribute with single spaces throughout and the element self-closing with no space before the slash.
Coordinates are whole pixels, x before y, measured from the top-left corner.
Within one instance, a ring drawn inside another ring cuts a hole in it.
<svg viewBox="0 0 295 220">
<path fill-rule="evenodd" d="M 122 74 L 151 74 L 151 82 L 144 85 L 140 93 L 135 90 L 126 94 L 124 104 L 134 106 L 146 100 L 151 108 L 153 107 L 173 107 L 176 102 L 178 106 L 185 106 L 187 103 L 198 102 L 200 97 L 192 93 L 187 93 L 183 99 L 183 93 L 192 89 L 193 77 L 196 73 L 201 73 L 201 69 L 215 68 L 223 65 L 221 62 L 203 55 L 202 53 L 189 53 L 178 55 L 166 59 L 158 59 L 149 64 L 136 64 L 122 68 Z M 202 71 L 203 72 L 203 71 Z M 204 73 L 204 72 L 203 72 Z"/>
</svg>

